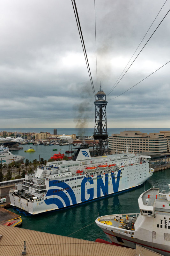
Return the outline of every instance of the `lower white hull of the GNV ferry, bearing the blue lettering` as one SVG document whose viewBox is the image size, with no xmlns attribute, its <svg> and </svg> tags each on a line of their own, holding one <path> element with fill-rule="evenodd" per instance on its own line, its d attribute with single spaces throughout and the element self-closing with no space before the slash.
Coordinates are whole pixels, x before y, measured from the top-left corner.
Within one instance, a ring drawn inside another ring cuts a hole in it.
<svg viewBox="0 0 170 256">
<path fill-rule="evenodd" d="M 121 174 L 121 171 L 120 171 Z M 81 180 L 76 181 L 74 184 L 77 184 L 76 188 L 71 188 L 66 182 L 62 182 L 62 185 L 53 186 L 53 182 L 50 181 L 49 189 L 45 199 L 37 199 L 35 202 L 34 200 L 27 200 L 26 198 L 22 198 L 15 193 L 10 193 L 10 201 L 11 205 L 18 207 L 26 212 L 31 214 L 38 214 L 42 212 L 49 212 L 54 210 L 61 210 L 66 207 L 75 206 L 77 204 L 89 202 L 92 200 L 100 199 L 105 196 L 111 196 L 116 193 L 123 192 L 125 190 L 129 190 L 135 187 L 140 186 L 144 181 L 146 181 L 151 175 L 147 177 L 141 178 L 135 181 L 130 181 L 128 183 L 123 182 L 123 177 L 118 174 L 118 178 L 112 178 L 112 182 L 109 184 L 109 177 L 108 174 L 101 175 L 100 179 L 92 180 L 92 178 L 87 179 L 86 177 Z M 81 176 L 80 176 L 81 177 Z M 120 177 L 120 178 L 119 178 Z M 74 179 L 74 178 L 72 178 Z M 90 184 L 89 184 L 90 183 Z M 88 184 L 88 187 L 87 185 Z M 58 191 L 59 188 L 65 189 L 65 187 L 70 187 L 69 193 L 67 190 Z M 78 188 L 78 189 L 77 189 Z M 54 192 L 53 191 L 56 191 Z M 65 198 L 66 197 L 66 198 Z"/>
</svg>

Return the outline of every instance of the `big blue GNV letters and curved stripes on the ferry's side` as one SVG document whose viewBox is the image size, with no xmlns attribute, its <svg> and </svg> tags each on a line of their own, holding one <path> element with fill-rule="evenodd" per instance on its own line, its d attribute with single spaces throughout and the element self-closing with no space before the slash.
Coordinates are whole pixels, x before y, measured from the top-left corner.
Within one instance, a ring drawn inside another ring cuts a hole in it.
<svg viewBox="0 0 170 256">
<path fill-rule="evenodd" d="M 99 198 L 101 196 L 101 193 L 104 196 L 107 196 L 112 193 L 118 192 L 119 189 L 119 181 L 120 181 L 120 176 L 121 175 L 121 170 L 118 171 L 117 173 L 117 179 L 115 180 L 115 175 L 114 173 L 111 173 L 111 184 L 113 190 L 110 191 L 108 190 L 108 173 L 105 174 L 105 179 L 102 179 L 102 176 L 99 175 L 97 177 L 97 184 L 94 184 L 94 181 L 91 177 L 85 177 L 81 181 L 81 187 L 79 188 L 80 190 L 80 196 L 81 196 L 81 202 L 86 202 L 89 200 L 92 200 L 94 198 Z M 87 188 L 89 187 L 89 188 Z M 61 189 L 59 189 L 61 188 Z M 95 189 L 97 190 L 97 195 L 95 194 Z M 66 206 L 70 205 L 75 205 L 77 204 L 76 200 L 76 192 L 72 190 L 72 188 L 65 182 L 60 182 L 59 180 L 51 180 L 49 181 L 49 189 L 46 194 L 46 197 L 48 196 L 53 196 L 46 198 L 44 202 L 46 204 L 56 204 L 58 208 L 63 208 Z M 94 196 L 95 194 L 95 196 Z M 57 196 L 57 197 L 55 197 Z"/>
</svg>

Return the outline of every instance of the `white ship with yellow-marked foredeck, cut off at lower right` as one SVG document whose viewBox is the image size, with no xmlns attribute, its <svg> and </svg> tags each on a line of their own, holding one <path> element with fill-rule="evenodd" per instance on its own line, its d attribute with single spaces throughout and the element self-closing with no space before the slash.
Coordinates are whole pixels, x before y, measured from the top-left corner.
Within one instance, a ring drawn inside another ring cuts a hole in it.
<svg viewBox="0 0 170 256">
<path fill-rule="evenodd" d="M 170 187 L 170 184 L 168 185 Z M 143 246 L 170 255 L 170 192 L 151 188 L 138 199 L 140 213 L 98 217 L 96 224 L 111 240 L 130 248 Z"/>
</svg>

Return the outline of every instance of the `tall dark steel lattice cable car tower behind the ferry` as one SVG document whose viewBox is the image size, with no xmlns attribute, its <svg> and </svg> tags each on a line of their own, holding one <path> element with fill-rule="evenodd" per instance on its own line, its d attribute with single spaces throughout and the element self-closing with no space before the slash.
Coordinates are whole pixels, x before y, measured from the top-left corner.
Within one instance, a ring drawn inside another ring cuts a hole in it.
<svg viewBox="0 0 170 256">
<path fill-rule="evenodd" d="M 95 124 L 94 124 L 94 142 L 93 142 L 93 156 L 103 156 L 104 153 L 108 155 L 108 133 L 107 133 L 107 119 L 106 119 L 106 93 L 103 92 L 101 85 L 100 90 L 96 93 L 95 105 Z M 96 143 L 99 140 L 99 143 Z"/>
</svg>

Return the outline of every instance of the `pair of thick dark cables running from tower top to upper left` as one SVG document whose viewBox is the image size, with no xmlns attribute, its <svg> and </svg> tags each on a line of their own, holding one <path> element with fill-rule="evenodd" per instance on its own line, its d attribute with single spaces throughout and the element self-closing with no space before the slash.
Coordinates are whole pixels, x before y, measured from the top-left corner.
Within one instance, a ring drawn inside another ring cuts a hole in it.
<svg viewBox="0 0 170 256">
<path fill-rule="evenodd" d="M 85 49 L 85 43 L 84 43 L 83 34 L 82 34 L 81 26 L 80 26 L 80 21 L 79 21 L 79 17 L 78 17 L 76 2 L 75 2 L 75 0 L 71 0 L 71 2 L 72 2 L 72 5 L 73 5 L 74 15 L 75 15 L 77 26 L 78 26 L 78 32 L 79 32 L 81 44 L 82 44 L 82 47 L 83 47 L 83 52 L 84 52 L 84 55 L 85 55 L 85 62 L 86 62 L 86 65 L 87 65 L 87 70 L 88 70 L 89 77 L 90 77 L 90 82 L 91 82 L 91 85 L 92 85 L 92 91 L 93 91 L 93 94 L 94 94 L 94 97 L 95 97 L 95 90 L 94 90 L 92 75 L 91 75 L 89 62 L 88 62 L 88 58 L 87 58 L 87 53 L 86 53 L 86 49 Z M 74 2 L 74 4 L 73 4 L 73 2 Z"/>
</svg>

